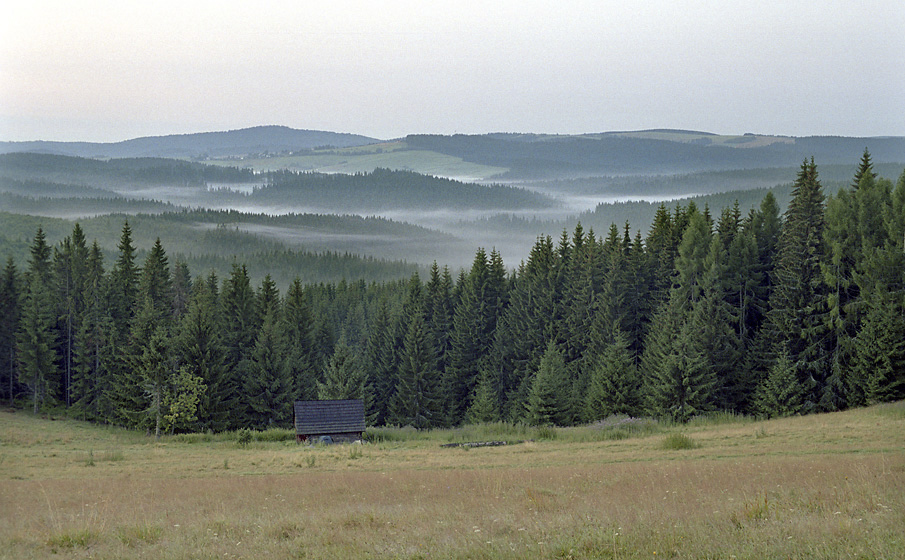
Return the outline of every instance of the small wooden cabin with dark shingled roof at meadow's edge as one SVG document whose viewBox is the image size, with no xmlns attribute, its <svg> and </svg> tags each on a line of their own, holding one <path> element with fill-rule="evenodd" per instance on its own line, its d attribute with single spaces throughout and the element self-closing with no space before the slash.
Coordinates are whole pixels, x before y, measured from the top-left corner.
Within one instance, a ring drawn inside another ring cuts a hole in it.
<svg viewBox="0 0 905 560">
<path fill-rule="evenodd" d="M 361 399 L 296 401 L 295 440 L 357 441 L 365 431 L 365 407 Z"/>
</svg>

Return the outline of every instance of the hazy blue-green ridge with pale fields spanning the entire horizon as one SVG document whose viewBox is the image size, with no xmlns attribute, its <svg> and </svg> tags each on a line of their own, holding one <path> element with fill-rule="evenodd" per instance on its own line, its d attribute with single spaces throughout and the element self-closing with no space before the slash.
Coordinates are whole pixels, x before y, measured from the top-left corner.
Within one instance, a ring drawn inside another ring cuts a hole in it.
<svg viewBox="0 0 905 560">
<path fill-rule="evenodd" d="M 330 149 L 315 150 L 326 147 Z M 679 129 L 588 134 L 410 134 L 385 142 L 356 134 L 258 126 L 115 143 L 0 142 L 0 154 L 210 159 L 219 160 L 216 163 L 221 165 L 259 170 L 306 171 L 326 167 L 327 172 L 342 172 L 336 169 L 356 163 L 350 166 L 356 169 L 354 172 L 387 167 L 419 169 L 442 176 L 444 166 L 464 162 L 473 165 L 459 168 L 468 168 L 472 173 L 481 172 L 475 166 L 490 169 L 489 177 L 507 181 L 789 167 L 811 157 L 820 165 L 852 164 L 865 149 L 876 163 L 905 162 L 905 137 L 725 135 Z M 243 161 L 235 161 L 238 159 Z"/>
</svg>

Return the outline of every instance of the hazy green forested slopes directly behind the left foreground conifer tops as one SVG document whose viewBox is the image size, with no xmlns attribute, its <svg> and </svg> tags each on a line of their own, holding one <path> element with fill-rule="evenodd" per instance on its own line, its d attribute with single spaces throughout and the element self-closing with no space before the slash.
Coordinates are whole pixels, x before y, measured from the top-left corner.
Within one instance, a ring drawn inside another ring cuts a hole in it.
<svg viewBox="0 0 905 560">
<path fill-rule="evenodd" d="M 245 228 L 303 229 L 323 235 L 336 232 L 342 236 L 355 236 L 349 243 L 359 240 L 359 248 L 366 242 L 377 244 L 382 239 L 413 236 L 425 245 L 443 241 L 442 236 L 435 232 L 383 218 L 318 214 L 267 216 L 227 210 L 182 210 L 153 215 L 101 215 L 83 219 L 79 224 L 83 235 L 97 241 L 102 256 L 110 261 L 117 256 L 116 248 L 126 220 L 130 224 L 139 259 L 146 256 L 156 239 L 160 239 L 171 259 L 185 263 L 192 270 L 225 275 L 234 263 L 241 262 L 249 267 L 250 276 L 255 281 L 269 274 L 274 283 L 282 288 L 289 286 L 296 277 L 304 283 L 335 282 L 342 278 L 388 281 L 405 278 L 424 267 L 398 259 L 360 256 L 349 251 L 315 251 L 300 245 L 288 246 L 278 238 L 250 233 Z M 28 260 L 29 247 L 38 227 L 50 239 L 62 239 L 73 227 L 70 220 L 4 212 L 0 212 L 0 222 L 3 223 L 0 255 L 13 257 L 19 266 Z M 412 254 L 412 247 L 409 251 Z"/>
</svg>

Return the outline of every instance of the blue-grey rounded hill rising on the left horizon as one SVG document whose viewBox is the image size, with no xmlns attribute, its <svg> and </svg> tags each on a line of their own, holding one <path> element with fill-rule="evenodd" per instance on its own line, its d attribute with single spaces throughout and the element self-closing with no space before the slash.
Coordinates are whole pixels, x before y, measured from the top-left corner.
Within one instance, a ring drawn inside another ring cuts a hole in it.
<svg viewBox="0 0 905 560">
<path fill-rule="evenodd" d="M 284 153 L 322 146 L 345 148 L 379 142 L 357 134 L 258 126 L 224 132 L 148 136 L 123 142 L 0 142 L 0 153 L 41 152 L 80 157 L 231 157 Z"/>
</svg>

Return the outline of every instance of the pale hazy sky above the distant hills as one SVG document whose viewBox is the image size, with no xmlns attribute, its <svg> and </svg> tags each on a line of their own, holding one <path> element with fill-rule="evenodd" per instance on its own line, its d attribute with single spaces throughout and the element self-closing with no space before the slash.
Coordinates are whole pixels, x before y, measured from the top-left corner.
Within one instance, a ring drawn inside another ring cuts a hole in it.
<svg viewBox="0 0 905 560">
<path fill-rule="evenodd" d="M 905 136 L 905 2 L 12 2 L 0 141 L 258 125 Z"/>
</svg>

